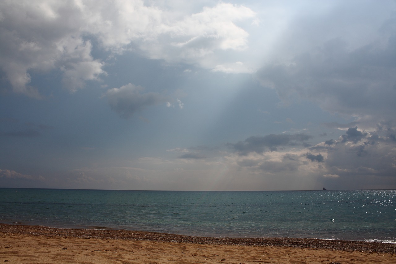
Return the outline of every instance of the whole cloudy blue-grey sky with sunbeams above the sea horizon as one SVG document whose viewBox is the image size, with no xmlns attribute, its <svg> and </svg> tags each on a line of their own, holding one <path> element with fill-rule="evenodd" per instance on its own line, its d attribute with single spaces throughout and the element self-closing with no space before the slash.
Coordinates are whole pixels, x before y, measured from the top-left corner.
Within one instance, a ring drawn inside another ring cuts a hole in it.
<svg viewBox="0 0 396 264">
<path fill-rule="evenodd" d="M 2 0 L 0 187 L 396 189 L 394 0 Z"/>
</svg>

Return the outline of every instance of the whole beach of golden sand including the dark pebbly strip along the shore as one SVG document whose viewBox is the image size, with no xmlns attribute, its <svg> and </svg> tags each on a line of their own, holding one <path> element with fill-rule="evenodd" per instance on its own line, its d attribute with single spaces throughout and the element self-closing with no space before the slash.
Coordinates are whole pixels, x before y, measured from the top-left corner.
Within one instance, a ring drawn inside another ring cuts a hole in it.
<svg viewBox="0 0 396 264">
<path fill-rule="evenodd" d="M 396 263 L 396 244 L 290 238 L 214 238 L 126 230 L 0 224 L 9 263 Z"/>
</svg>

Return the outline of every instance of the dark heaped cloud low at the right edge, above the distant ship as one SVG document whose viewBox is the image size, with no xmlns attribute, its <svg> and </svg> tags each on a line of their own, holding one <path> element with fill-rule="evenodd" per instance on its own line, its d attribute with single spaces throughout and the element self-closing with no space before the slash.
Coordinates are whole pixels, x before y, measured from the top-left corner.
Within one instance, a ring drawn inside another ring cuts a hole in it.
<svg viewBox="0 0 396 264">
<path fill-rule="evenodd" d="M 310 149 L 322 146 L 321 151 L 326 153 L 326 159 L 321 163 L 327 168 L 327 172 L 324 173 L 326 175 L 337 175 L 337 178 L 351 182 L 362 177 L 394 180 L 396 142 L 392 135 L 395 130 L 394 127 L 386 125 L 379 125 L 377 130 L 370 132 L 361 132 L 358 127 L 351 127 L 338 140 L 327 140 Z M 326 145 L 331 147 L 325 147 Z M 317 160 L 318 155 L 309 154 L 307 153 L 308 159 Z"/>
</svg>

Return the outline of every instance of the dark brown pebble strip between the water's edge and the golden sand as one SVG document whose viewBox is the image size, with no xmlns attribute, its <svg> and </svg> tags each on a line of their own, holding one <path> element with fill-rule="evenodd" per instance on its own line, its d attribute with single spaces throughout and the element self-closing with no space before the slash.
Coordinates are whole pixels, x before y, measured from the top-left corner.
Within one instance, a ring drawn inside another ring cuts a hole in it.
<svg viewBox="0 0 396 264">
<path fill-rule="evenodd" d="M 196 243 L 211 245 L 243 245 L 243 246 L 273 246 L 273 247 L 298 247 L 306 249 L 330 249 L 341 251 L 361 251 L 367 253 L 390 253 L 396 254 L 396 244 L 347 241 L 347 240 L 324 240 L 324 239 L 300 239 L 300 238 L 232 238 L 232 237 L 193 237 L 187 235 L 174 235 L 167 233 L 155 233 L 130 230 L 98 230 L 98 229 L 69 229 L 48 228 L 44 226 L 23 226 L 0 224 L 0 235 L 38 235 L 49 237 L 69 238 L 96 238 L 96 239 L 123 239 L 158 241 L 172 243 Z"/>
</svg>

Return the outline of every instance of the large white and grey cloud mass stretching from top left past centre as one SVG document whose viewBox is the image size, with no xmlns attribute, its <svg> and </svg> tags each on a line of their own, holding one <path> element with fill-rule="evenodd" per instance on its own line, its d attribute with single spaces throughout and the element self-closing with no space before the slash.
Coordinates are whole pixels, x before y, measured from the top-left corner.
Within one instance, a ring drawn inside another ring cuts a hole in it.
<svg viewBox="0 0 396 264">
<path fill-rule="evenodd" d="M 90 39 L 111 52 L 133 46 L 152 59 L 210 69 L 221 62 L 213 61 L 217 50 L 247 47 L 248 33 L 234 21 L 254 16 L 249 8 L 222 2 L 181 18 L 142 0 L 5 0 L 0 3 L 0 68 L 14 92 L 36 98 L 40 91 L 30 86 L 32 73 L 60 70 L 71 92 L 105 74 L 105 63 L 91 54 Z"/>
</svg>

